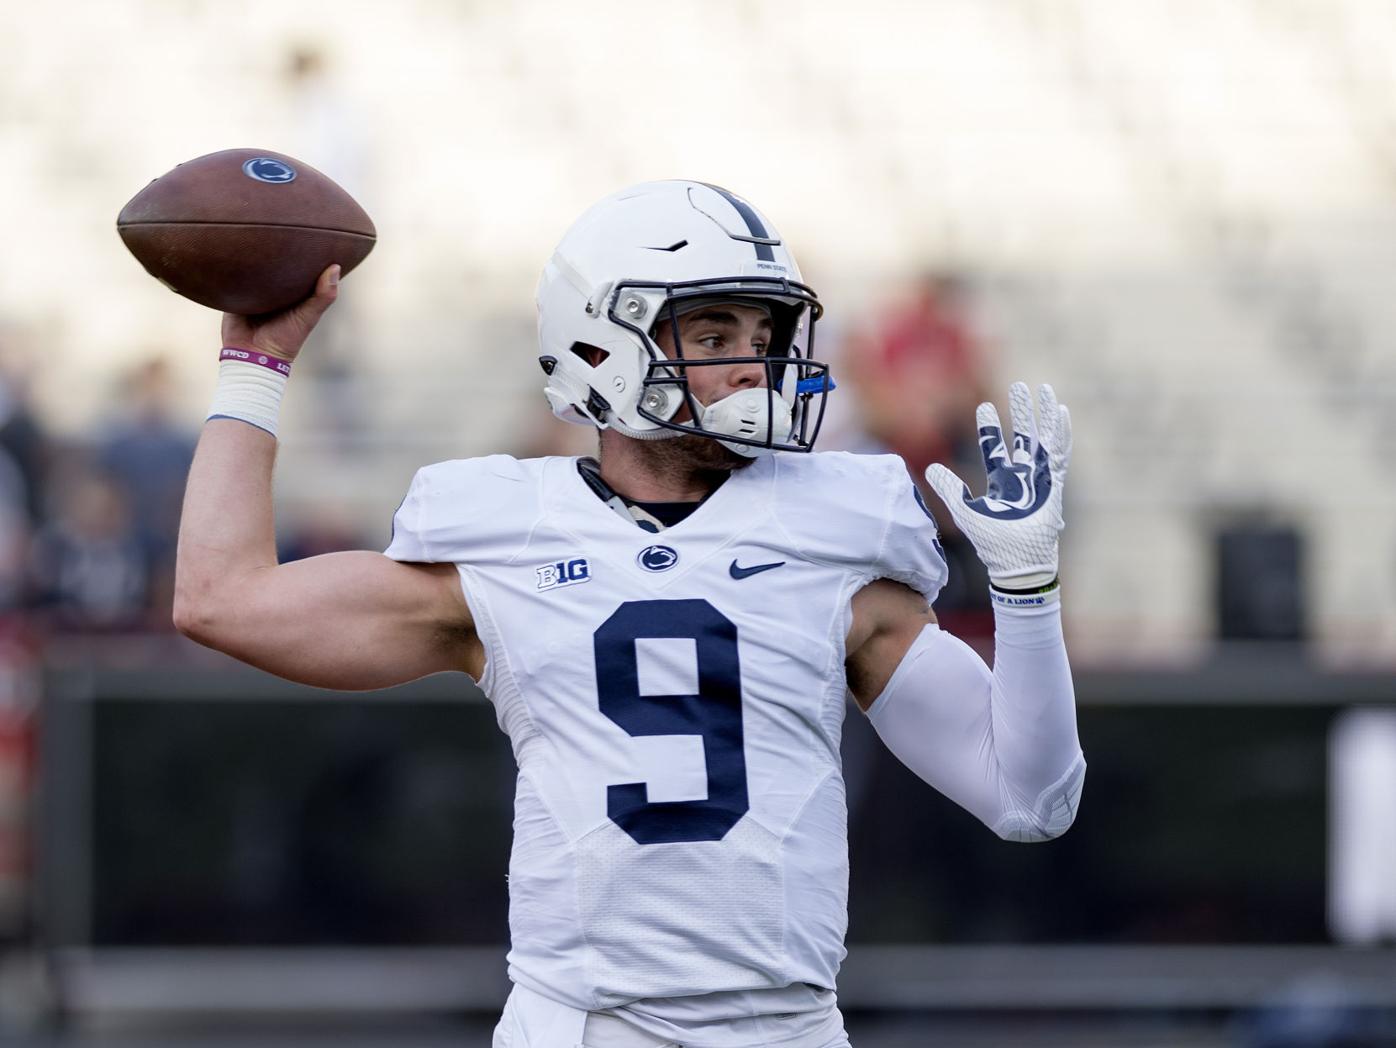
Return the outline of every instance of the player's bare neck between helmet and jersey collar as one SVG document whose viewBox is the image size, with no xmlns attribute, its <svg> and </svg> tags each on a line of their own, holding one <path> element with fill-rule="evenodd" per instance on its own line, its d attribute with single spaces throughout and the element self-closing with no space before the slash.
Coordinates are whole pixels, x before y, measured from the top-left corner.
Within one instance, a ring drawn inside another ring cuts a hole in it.
<svg viewBox="0 0 1396 1048">
<path fill-rule="evenodd" d="M 695 445 L 697 441 L 702 444 Z M 602 480 L 635 502 L 701 502 L 733 469 L 750 463 L 750 459 L 729 462 L 711 454 L 706 444 L 725 452 L 705 437 L 637 441 L 606 431 L 597 454 Z"/>
</svg>

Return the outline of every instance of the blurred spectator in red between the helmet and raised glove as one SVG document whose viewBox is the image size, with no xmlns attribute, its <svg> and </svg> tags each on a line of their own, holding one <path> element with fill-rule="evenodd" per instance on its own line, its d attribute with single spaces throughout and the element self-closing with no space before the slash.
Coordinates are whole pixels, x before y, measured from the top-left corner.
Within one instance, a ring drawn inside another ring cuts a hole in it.
<svg viewBox="0 0 1396 1048">
<path fill-rule="evenodd" d="M 994 398 L 965 282 L 952 274 L 928 274 L 905 300 L 877 315 L 849 340 L 845 375 L 868 435 L 906 461 L 940 526 L 951 575 L 935 601 L 937 615 L 946 629 L 984 647 L 994 634 L 988 576 L 923 476 L 928 465 L 944 462 L 983 490 L 974 409 Z"/>
</svg>

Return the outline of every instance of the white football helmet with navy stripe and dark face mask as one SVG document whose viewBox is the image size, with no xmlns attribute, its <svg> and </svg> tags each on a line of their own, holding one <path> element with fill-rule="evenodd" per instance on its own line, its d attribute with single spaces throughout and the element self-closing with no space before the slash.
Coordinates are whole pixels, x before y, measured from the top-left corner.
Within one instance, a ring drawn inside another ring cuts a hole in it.
<svg viewBox="0 0 1396 1048">
<path fill-rule="evenodd" d="M 766 307 L 766 354 L 685 360 L 678 315 L 697 299 Z M 811 451 L 833 388 L 828 366 L 811 359 L 821 313 L 794 258 L 755 208 L 705 183 L 646 181 L 586 211 L 543 269 L 537 336 L 544 394 L 560 419 L 638 440 L 691 433 L 750 456 Z M 673 359 L 652 336 L 658 324 L 673 325 Z M 595 357 L 602 359 L 593 366 Z M 687 368 L 734 363 L 765 364 L 765 387 L 699 405 Z M 671 421 L 684 403 L 691 421 Z"/>
</svg>

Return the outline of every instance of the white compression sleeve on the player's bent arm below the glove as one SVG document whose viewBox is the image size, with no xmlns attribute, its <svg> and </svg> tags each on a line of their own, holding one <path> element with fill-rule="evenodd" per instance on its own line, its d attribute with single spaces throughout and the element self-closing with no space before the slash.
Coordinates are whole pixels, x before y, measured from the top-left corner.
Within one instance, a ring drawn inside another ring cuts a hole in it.
<svg viewBox="0 0 1396 1048">
<path fill-rule="evenodd" d="M 907 649 L 868 719 L 888 749 L 1004 840 L 1076 818 L 1086 761 L 1061 603 L 994 608 L 994 668 L 940 627 Z"/>
</svg>

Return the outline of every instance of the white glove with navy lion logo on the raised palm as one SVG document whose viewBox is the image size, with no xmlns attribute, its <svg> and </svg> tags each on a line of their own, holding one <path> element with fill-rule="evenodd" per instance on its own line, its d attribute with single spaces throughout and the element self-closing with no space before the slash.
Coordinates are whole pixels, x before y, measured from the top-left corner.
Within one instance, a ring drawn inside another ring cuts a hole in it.
<svg viewBox="0 0 1396 1048">
<path fill-rule="evenodd" d="M 1039 423 L 1025 382 L 1008 392 L 1013 449 L 1004 444 L 998 412 L 981 403 L 974 413 L 988 490 L 973 498 L 958 476 L 938 462 L 926 480 L 969 537 L 997 589 L 1037 590 L 1057 579 L 1061 490 L 1071 461 L 1071 416 L 1050 385 L 1037 389 Z"/>
</svg>

